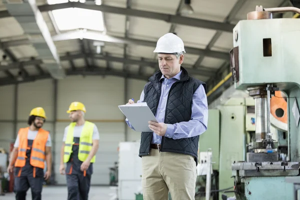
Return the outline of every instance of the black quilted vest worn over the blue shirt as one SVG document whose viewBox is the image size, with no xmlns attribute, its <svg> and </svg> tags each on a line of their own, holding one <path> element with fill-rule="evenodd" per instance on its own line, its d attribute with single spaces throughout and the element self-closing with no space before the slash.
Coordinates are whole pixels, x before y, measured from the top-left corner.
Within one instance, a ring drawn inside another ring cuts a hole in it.
<svg viewBox="0 0 300 200">
<path fill-rule="evenodd" d="M 206 84 L 200 80 L 190 77 L 187 71 L 181 67 L 180 80 L 174 82 L 169 90 L 164 123 L 174 124 L 188 121 L 191 117 L 191 104 L 194 91 L 202 84 L 206 92 Z M 144 102 L 155 115 L 161 92 L 162 73 L 156 71 L 144 86 Z M 152 132 L 141 132 L 139 156 L 148 155 Z M 160 151 L 184 153 L 194 156 L 197 160 L 199 135 L 194 137 L 171 139 L 162 136 Z M 197 161 L 196 161 L 197 163 Z"/>
</svg>

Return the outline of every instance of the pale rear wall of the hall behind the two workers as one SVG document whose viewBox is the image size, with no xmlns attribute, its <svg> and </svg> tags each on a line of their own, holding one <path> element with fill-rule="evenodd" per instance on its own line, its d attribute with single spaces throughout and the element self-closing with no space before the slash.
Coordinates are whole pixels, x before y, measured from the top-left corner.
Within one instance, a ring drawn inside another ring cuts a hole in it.
<svg viewBox="0 0 300 200">
<path fill-rule="evenodd" d="M 128 79 L 128 98 L 139 99 L 146 81 Z M 14 142 L 14 85 L 0 87 L 0 147 L 9 150 Z M 64 127 L 69 124 L 66 110 L 72 101 L 81 101 L 86 107 L 85 119 L 94 122 L 99 130 L 100 141 L 97 152 L 93 184 L 108 184 L 109 167 L 118 159 L 117 147 L 125 139 L 133 141 L 140 137 L 125 126 L 124 116 L 117 105 L 124 104 L 124 78 L 115 76 L 69 76 L 57 81 L 57 121 L 54 130 L 54 84 L 53 80 L 39 80 L 18 85 L 17 93 L 17 130 L 27 126 L 26 121 L 33 107 L 45 109 L 47 121 L 43 128 L 50 131 L 53 142 L 53 164 L 55 180 L 65 183 L 65 177 L 58 174 L 59 151 Z M 15 133 L 16 134 L 16 133 Z"/>
</svg>

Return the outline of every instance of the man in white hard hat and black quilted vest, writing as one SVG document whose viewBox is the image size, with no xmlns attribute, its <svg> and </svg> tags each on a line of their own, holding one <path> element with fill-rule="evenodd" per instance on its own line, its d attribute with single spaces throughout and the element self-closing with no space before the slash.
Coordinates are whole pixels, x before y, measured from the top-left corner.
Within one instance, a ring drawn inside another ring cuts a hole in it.
<svg viewBox="0 0 300 200">
<path fill-rule="evenodd" d="M 167 200 L 168 191 L 173 200 L 194 199 L 199 134 L 207 128 L 206 84 L 181 66 L 185 50 L 177 35 L 161 36 L 153 52 L 160 70 L 137 101 L 147 102 L 158 121 L 149 121 L 153 132 L 141 133 L 143 199 Z"/>
</svg>

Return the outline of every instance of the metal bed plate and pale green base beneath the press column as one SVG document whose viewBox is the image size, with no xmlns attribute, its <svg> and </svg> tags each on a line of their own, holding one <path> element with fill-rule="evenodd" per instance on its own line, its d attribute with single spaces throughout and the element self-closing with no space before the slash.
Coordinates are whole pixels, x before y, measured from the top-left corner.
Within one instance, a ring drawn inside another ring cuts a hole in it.
<svg viewBox="0 0 300 200">
<path fill-rule="evenodd" d="M 293 183 L 287 176 L 299 175 L 299 162 L 234 162 L 231 165 L 236 199 L 293 199 Z"/>
</svg>

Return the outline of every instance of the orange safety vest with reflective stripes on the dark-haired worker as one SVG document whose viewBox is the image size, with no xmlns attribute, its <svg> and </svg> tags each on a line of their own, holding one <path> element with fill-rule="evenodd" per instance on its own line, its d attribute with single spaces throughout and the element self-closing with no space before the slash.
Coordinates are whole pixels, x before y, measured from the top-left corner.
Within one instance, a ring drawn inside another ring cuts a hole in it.
<svg viewBox="0 0 300 200">
<path fill-rule="evenodd" d="M 30 149 L 28 147 L 28 130 L 29 127 L 20 128 L 18 131 L 19 136 L 19 145 L 18 145 L 18 152 L 17 158 L 15 160 L 14 166 L 16 167 L 23 167 L 26 163 L 26 150 Z M 30 153 L 30 164 L 35 167 L 44 168 L 44 160 L 45 160 L 45 149 L 46 149 L 46 142 L 48 139 L 49 132 L 39 128 L 36 134 L 35 139 L 33 139 L 32 146 L 31 146 L 31 153 Z"/>
</svg>

